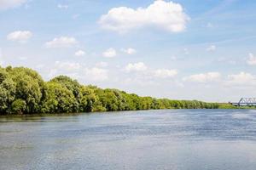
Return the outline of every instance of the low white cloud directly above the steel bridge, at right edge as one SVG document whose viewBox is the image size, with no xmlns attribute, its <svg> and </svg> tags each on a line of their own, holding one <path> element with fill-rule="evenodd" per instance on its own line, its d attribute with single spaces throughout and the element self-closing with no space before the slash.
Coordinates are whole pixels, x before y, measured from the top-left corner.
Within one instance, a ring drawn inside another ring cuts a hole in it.
<svg viewBox="0 0 256 170">
<path fill-rule="evenodd" d="M 247 72 L 240 72 L 239 74 L 229 75 L 226 85 L 255 85 L 256 77 Z"/>
</svg>

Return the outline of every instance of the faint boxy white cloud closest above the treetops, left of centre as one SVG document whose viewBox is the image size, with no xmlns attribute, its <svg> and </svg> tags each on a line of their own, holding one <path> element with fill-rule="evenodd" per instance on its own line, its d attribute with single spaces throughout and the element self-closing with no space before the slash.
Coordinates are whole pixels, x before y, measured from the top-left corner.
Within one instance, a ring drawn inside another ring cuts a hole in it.
<svg viewBox="0 0 256 170">
<path fill-rule="evenodd" d="M 106 69 L 102 69 L 102 68 L 97 68 L 97 67 L 93 67 L 93 68 L 86 68 L 84 70 L 85 72 L 85 78 L 90 79 L 92 81 L 105 81 L 108 80 L 108 70 Z"/>
</svg>

